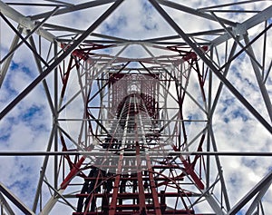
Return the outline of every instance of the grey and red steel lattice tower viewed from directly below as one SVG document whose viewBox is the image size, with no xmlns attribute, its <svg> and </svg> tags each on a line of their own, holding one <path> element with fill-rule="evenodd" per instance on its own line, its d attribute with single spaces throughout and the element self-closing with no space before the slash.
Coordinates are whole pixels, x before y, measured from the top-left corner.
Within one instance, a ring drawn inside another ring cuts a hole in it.
<svg viewBox="0 0 272 215">
<path fill-rule="evenodd" d="M 272 171 L 233 204 L 223 173 L 228 163 L 221 160 L 269 157 L 269 147 L 225 151 L 216 126 L 228 93 L 271 142 L 271 2 L 199 1 L 194 8 L 183 1 L 139 1 L 169 33 L 103 33 L 102 24 L 129 2 L 0 1 L 1 27 L 14 35 L 12 42 L 0 35 L 0 93 L 16 54 L 32 56 L 28 64 L 38 71 L 5 103 L 1 126 L 39 86 L 52 119 L 44 151 L 0 152 L 2 160 L 44 159 L 32 208 L 1 182 L 1 214 L 265 214 Z M 76 15 L 80 23 L 83 12 L 94 14 L 84 18 L 84 29 L 68 21 Z M 194 27 L 200 20 L 205 25 Z M 254 83 L 233 82 L 235 72 L 254 77 L 261 103 L 245 93 Z"/>
</svg>

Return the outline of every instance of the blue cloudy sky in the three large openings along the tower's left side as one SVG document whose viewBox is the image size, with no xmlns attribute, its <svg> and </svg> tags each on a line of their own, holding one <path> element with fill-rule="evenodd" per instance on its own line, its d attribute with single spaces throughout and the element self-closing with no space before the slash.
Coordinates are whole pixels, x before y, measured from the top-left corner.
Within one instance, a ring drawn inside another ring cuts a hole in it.
<svg viewBox="0 0 272 215">
<path fill-rule="evenodd" d="M 34 68 L 35 69 L 35 68 Z M 6 74 L 5 82 L 0 90 L 0 106 L 3 108 L 17 93 L 24 89 L 36 73 L 34 69 L 22 63 L 12 62 Z M 50 131 L 50 111 L 45 99 L 43 87 L 39 86 L 34 93 L 26 96 L 25 100 L 12 110 L 0 122 L 0 144 L 2 151 L 44 151 L 46 139 Z M 1 182 L 24 199 L 24 203 L 31 207 L 36 177 L 40 171 L 43 159 L 41 157 L 0 158 Z M 6 169 L 6 167 L 12 167 Z M 15 210 L 16 211 L 16 210 Z M 19 213 L 19 211 L 17 211 Z"/>
</svg>

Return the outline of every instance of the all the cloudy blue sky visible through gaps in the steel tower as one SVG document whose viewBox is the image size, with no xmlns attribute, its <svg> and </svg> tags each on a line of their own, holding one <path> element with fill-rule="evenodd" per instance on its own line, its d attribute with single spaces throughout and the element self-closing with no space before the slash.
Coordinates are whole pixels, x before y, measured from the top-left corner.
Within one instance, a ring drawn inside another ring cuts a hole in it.
<svg viewBox="0 0 272 215">
<path fill-rule="evenodd" d="M 6 2 L 6 1 L 4 1 Z M 15 1 L 8 1 L 15 2 Z M 32 1 L 29 1 L 32 2 Z M 36 2 L 36 1 L 34 1 Z M 66 1 L 73 3 L 73 1 Z M 77 4 L 85 1 L 76 1 Z M 180 3 L 180 1 L 172 1 Z M 186 6 L 192 8 L 202 8 L 208 5 L 216 5 L 219 1 L 186 1 Z M 228 3 L 229 1 L 220 1 L 220 4 Z M 48 3 L 48 2 L 47 2 Z M 248 5 L 237 5 L 236 9 L 247 8 L 248 10 L 259 8 L 264 9 L 271 5 L 269 1 L 260 1 L 259 3 Z M 102 5 L 98 8 L 75 12 L 69 17 L 67 15 L 57 15 L 49 19 L 48 23 L 60 24 L 67 27 L 76 27 L 86 29 L 93 20 L 102 14 L 108 5 Z M 133 8 L 131 10 L 131 8 Z M 220 27 L 216 22 L 207 22 L 202 18 L 196 18 L 185 13 L 178 13 L 176 10 L 164 7 L 171 15 L 180 28 L 186 33 L 196 33 L 209 29 L 217 29 Z M 228 9 L 228 7 L 225 7 Z M 41 7 L 24 7 L 15 6 L 15 9 L 24 15 L 34 15 L 44 12 Z M 49 9 L 49 8 L 48 8 Z M 233 20 L 234 22 L 243 22 L 252 14 L 227 14 L 216 13 L 222 17 Z M 253 14 L 254 15 L 254 14 Z M 0 33 L 0 58 L 2 58 L 11 42 L 14 33 L 12 30 L 1 21 Z M 12 24 L 15 22 L 11 21 Z M 268 23 L 271 23 L 271 19 Z M 263 29 L 263 24 L 248 31 L 249 38 L 254 38 L 260 30 Z M 108 19 L 105 20 L 96 30 L 95 33 L 109 34 L 125 39 L 149 39 L 152 37 L 162 37 L 167 35 L 175 35 L 175 31 L 167 24 L 155 9 L 144 0 L 125 1 Z M 54 33 L 53 34 L 59 34 Z M 267 34 L 267 38 L 271 38 L 271 30 Z M 209 36 L 207 36 L 208 38 Z M 263 39 L 263 37 L 262 37 Z M 256 44 L 253 44 L 254 52 L 258 62 L 263 62 L 263 40 L 260 39 Z M 37 40 L 37 37 L 35 37 Z M 231 48 L 231 41 L 228 43 L 228 52 Z M 272 40 L 267 39 L 267 50 L 265 54 L 264 70 L 267 72 L 269 64 L 271 64 L 272 52 L 269 50 Z M 241 44 L 244 45 L 243 42 Z M 49 43 L 44 42 L 42 47 L 43 56 L 49 50 Z M 121 47 L 115 47 L 108 50 L 108 54 L 116 54 L 121 50 Z M 151 49 L 152 50 L 152 49 Z M 238 48 L 239 50 L 239 48 Z M 215 64 L 223 65 L 226 61 L 224 58 L 225 44 L 218 46 L 219 59 L 215 60 Z M 154 50 L 154 54 L 160 54 L 158 50 Z M 149 54 L 141 47 L 130 46 L 125 49 L 121 56 L 131 57 L 146 57 Z M 1 65 L 2 66 L 2 65 Z M 15 96 L 20 93 L 34 78 L 38 75 L 37 67 L 34 64 L 34 57 L 29 49 L 22 45 L 16 52 L 13 62 L 5 77 L 5 81 L 0 88 L 0 109 L 3 110 L 6 104 L 10 103 Z M 73 79 L 76 80 L 76 75 Z M 240 54 L 233 62 L 230 71 L 228 72 L 228 80 L 238 91 L 251 103 L 261 115 L 269 121 L 268 114 L 261 99 L 261 94 L 257 86 L 256 76 L 250 66 L 250 59 L 247 54 Z M 53 74 L 46 78 L 49 85 L 50 93 L 53 94 Z M 214 87 L 217 89 L 219 80 L 214 78 Z M 207 86 L 205 86 L 207 87 Z M 272 93 L 272 78 L 271 74 L 267 76 L 267 91 L 271 98 Z M 68 101 L 73 93 L 78 88 L 73 86 L 73 81 L 69 83 L 67 90 Z M 192 85 L 189 91 L 194 93 L 195 87 Z M 213 98 L 216 90 L 213 92 Z M 197 95 L 196 95 L 197 96 Z M 61 116 L 68 117 L 72 114 L 76 117 L 77 114 L 82 114 L 83 107 L 78 110 L 77 98 Z M 195 107 L 193 104 L 192 107 Z M 77 110 L 77 112 L 75 112 Z M 189 112 L 189 111 L 188 111 Z M 189 112 L 190 117 L 192 113 Z M 81 117 L 81 116 L 79 116 Z M 29 93 L 22 102 L 20 102 L 11 112 L 9 112 L 0 122 L 0 145 L 1 151 L 45 151 L 47 142 L 50 136 L 52 127 L 52 113 L 48 105 L 44 88 L 39 84 L 34 88 L 34 91 Z M 66 125 L 65 125 L 66 123 Z M 71 133 L 76 139 L 78 123 L 63 122 L 63 127 Z M 270 122 L 271 124 L 271 122 Z M 194 137 L 195 127 L 189 127 L 191 136 Z M 196 129 L 197 130 L 197 129 Z M 215 139 L 218 144 L 219 151 L 272 151 L 271 134 L 257 122 L 248 110 L 228 91 L 223 88 L 219 104 L 213 117 L 213 130 Z M 31 208 L 34 199 L 34 190 L 37 184 L 37 177 L 43 164 L 42 157 L 1 157 L 0 158 L 0 181 L 5 184 L 8 189 L 13 191 L 15 195 L 24 200 L 24 203 Z M 231 205 L 234 205 L 241 199 L 250 188 L 260 181 L 268 172 L 271 171 L 271 161 L 269 157 L 221 157 L 220 159 L 222 170 L 225 176 L 226 184 Z M 50 161 L 49 167 L 52 166 Z M 7 168 L 8 167 L 8 168 Z M 53 171 L 48 172 L 49 179 L 52 178 Z M 25 189 L 27 188 L 27 189 Z M 46 191 L 44 191 L 45 193 Z M 46 194 L 44 194 L 46 195 Z M 272 191 L 267 191 L 264 204 L 266 210 L 272 209 Z M 244 211 L 241 211 L 243 214 Z"/>
</svg>

